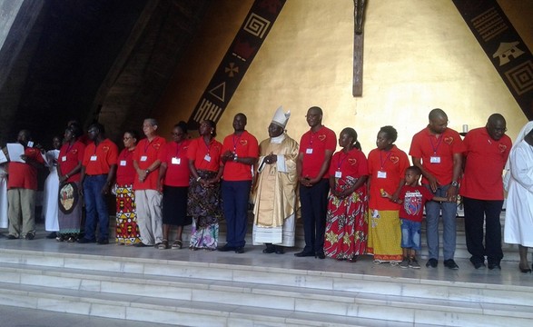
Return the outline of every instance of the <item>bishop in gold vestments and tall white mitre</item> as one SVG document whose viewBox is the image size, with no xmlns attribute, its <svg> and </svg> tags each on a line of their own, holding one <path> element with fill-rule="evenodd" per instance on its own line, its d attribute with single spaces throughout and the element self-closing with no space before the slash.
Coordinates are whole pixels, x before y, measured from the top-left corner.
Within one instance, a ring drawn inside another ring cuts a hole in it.
<svg viewBox="0 0 533 327">
<path fill-rule="evenodd" d="M 298 201 L 296 159 L 298 142 L 285 133 L 291 112 L 279 107 L 269 125 L 269 138 L 259 145 L 258 177 L 253 188 L 254 245 L 266 244 L 263 253 L 284 253 L 294 246 Z"/>
</svg>

